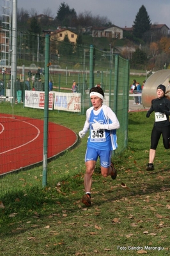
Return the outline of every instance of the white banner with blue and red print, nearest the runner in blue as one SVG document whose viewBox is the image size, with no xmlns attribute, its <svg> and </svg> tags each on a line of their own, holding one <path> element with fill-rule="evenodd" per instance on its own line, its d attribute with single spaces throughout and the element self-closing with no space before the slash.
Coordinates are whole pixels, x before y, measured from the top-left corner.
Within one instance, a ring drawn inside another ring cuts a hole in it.
<svg viewBox="0 0 170 256">
<path fill-rule="evenodd" d="M 54 109 L 81 112 L 81 94 L 73 92 L 54 92 Z"/>
</svg>

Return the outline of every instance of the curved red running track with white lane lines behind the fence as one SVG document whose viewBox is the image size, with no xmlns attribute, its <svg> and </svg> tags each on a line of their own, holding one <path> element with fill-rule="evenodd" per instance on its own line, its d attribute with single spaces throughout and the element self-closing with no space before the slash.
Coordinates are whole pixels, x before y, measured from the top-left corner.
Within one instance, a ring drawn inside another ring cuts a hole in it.
<svg viewBox="0 0 170 256">
<path fill-rule="evenodd" d="M 49 122 L 48 159 L 72 147 L 77 135 Z M 29 117 L 0 115 L 0 175 L 43 160 L 43 121 Z"/>
</svg>

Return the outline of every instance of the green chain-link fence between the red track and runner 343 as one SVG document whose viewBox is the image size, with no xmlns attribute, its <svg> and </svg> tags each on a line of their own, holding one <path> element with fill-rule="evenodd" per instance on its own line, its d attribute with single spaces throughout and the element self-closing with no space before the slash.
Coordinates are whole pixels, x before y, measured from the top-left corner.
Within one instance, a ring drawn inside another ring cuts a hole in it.
<svg viewBox="0 0 170 256">
<path fill-rule="evenodd" d="M 86 109 L 91 107 L 89 89 L 94 86 L 102 87 L 105 93 L 104 104 L 112 108 L 120 121 L 116 154 L 120 154 L 127 147 L 128 60 L 114 55 L 112 51 L 100 51 L 94 46 L 73 45 L 53 37 L 50 37 L 49 44 L 49 62 L 45 65 L 45 51 L 47 51 L 45 35 L 17 31 L 16 80 L 13 80 L 11 73 L 12 51 L 8 52 L 6 65 L 1 65 L 0 194 L 8 191 L 11 187 L 6 173 L 15 172 L 14 176 L 20 171 L 42 166 L 43 142 L 42 139 L 38 142 L 40 137 L 38 136 L 36 138 L 38 148 L 31 152 L 30 137 L 33 134 L 30 123 L 32 126 L 36 126 L 35 120 L 41 121 L 37 127 L 40 133 L 44 133 L 45 82 L 49 83 L 49 95 L 51 96 L 49 98 L 48 122 L 59 124 L 61 127 L 65 126 L 75 134 L 83 127 Z M 69 101 L 72 99 L 73 102 L 70 103 L 72 108 L 68 108 L 66 99 Z M 15 125 L 16 120 L 19 120 L 17 126 Z M 20 123 L 24 123 L 24 126 L 21 126 Z M 49 133 L 52 138 L 51 144 L 58 144 L 55 135 L 52 136 L 53 131 L 50 130 Z M 69 140 L 70 135 L 66 132 L 62 136 L 63 140 L 61 139 L 60 145 L 57 147 L 61 146 L 63 153 L 64 138 Z M 73 143 L 72 146 L 75 147 L 76 143 Z M 86 144 L 79 148 L 77 162 L 84 155 L 85 147 Z M 18 151 L 19 148 L 20 152 Z M 41 149 L 39 150 L 39 148 Z M 48 158 L 50 160 L 56 158 L 55 161 L 58 161 L 58 156 L 59 153 L 56 155 L 54 153 Z M 4 160 L 5 158 L 7 160 Z M 12 165 L 12 162 L 15 164 Z M 24 166 L 24 162 L 27 163 L 26 166 Z M 50 180 L 53 180 L 55 175 L 56 173 L 51 175 Z M 12 186 L 15 187 L 15 184 Z M 18 189 L 18 185 L 16 189 Z"/>
</svg>

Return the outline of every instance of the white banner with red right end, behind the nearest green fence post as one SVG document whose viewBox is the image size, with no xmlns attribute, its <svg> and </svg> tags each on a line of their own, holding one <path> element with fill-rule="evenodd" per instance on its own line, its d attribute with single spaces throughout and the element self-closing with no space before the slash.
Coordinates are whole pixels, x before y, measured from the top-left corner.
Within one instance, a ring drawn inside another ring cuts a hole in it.
<svg viewBox="0 0 170 256">
<path fill-rule="evenodd" d="M 49 110 L 52 110 L 54 102 L 54 93 L 49 92 Z M 24 107 L 41 108 L 44 109 L 45 92 L 38 92 L 36 90 L 25 90 Z"/>
</svg>

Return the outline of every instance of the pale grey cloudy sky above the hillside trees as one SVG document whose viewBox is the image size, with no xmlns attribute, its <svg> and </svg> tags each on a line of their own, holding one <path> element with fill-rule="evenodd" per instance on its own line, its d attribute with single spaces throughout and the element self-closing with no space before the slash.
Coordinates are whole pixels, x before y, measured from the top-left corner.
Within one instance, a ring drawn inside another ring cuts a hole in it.
<svg viewBox="0 0 170 256">
<path fill-rule="evenodd" d="M 94 16 L 107 17 L 121 28 L 131 27 L 139 8 L 144 5 L 152 23 L 166 24 L 170 28 L 170 0 L 18 0 L 17 6 L 28 11 L 34 8 L 38 14 L 49 8 L 52 17 L 56 17 L 59 5 L 64 2 L 77 14 L 88 11 Z"/>
</svg>

